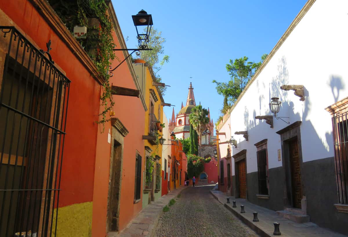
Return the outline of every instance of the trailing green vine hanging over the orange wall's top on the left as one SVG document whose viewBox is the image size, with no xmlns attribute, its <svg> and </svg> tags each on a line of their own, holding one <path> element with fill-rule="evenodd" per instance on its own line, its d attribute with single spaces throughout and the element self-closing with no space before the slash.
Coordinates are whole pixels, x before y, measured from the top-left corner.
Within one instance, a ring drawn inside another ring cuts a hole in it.
<svg viewBox="0 0 348 237">
<path fill-rule="evenodd" d="M 100 97 L 103 111 L 98 114 L 101 119 L 96 121 L 98 124 L 103 124 L 102 132 L 104 132 L 105 123 L 111 120 L 111 118 L 107 119 L 107 114 L 112 111 L 115 104 L 112 100 L 110 75 L 108 74 L 109 66 L 115 59 L 112 50 L 115 47 L 112 37 L 113 26 L 111 18 L 107 14 L 108 6 L 104 0 L 48 0 L 48 2 L 71 32 L 76 25 L 87 26 L 86 39 L 77 40 L 104 78 Z M 120 61 L 118 58 L 117 60 Z"/>
</svg>

